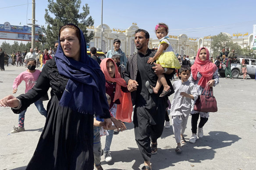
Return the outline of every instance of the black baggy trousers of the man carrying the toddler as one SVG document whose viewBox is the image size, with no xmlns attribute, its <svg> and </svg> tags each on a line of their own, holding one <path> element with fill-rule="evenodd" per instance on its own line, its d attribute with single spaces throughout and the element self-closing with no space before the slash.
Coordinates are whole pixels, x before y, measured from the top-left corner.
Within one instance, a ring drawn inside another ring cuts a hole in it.
<svg viewBox="0 0 256 170">
<path fill-rule="evenodd" d="M 149 123 L 150 115 L 147 114 L 143 107 L 135 107 L 134 110 L 135 140 L 144 161 L 149 161 L 151 157 L 150 141 L 156 142 L 164 130 L 165 111 L 158 111 L 158 114 L 156 125 L 151 125 Z"/>
</svg>

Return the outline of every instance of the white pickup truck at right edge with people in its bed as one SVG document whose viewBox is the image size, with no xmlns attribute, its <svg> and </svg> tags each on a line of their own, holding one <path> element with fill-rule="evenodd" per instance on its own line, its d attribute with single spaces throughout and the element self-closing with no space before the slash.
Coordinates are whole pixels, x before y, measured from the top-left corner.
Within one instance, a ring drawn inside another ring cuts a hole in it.
<svg viewBox="0 0 256 170">
<path fill-rule="evenodd" d="M 255 79 L 256 59 L 244 58 L 242 56 L 240 56 L 237 59 L 237 63 L 231 63 L 232 77 L 238 78 L 238 76 L 240 74 L 242 74 L 242 68 L 241 68 L 242 59 L 245 59 L 245 64 L 246 64 L 246 67 L 247 67 L 247 75 L 249 75 L 251 79 Z M 225 77 L 225 69 L 226 69 L 226 65 L 221 64 L 221 69 L 219 69 L 219 74 L 220 74 L 221 77 Z"/>
</svg>

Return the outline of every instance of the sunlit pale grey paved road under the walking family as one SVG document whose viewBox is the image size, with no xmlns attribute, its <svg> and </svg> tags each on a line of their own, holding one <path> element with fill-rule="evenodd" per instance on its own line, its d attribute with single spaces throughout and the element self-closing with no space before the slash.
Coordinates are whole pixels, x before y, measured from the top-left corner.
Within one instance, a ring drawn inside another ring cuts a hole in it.
<svg viewBox="0 0 256 170">
<path fill-rule="evenodd" d="M 12 93 L 12 83 L 25 67 L 8 66 L 0 72 L 0 98 Z M 18 88 L 18 96 L 25 91 L 25 83 Z M 158 140 L 158 153 L 152 156 L 154 170 L 252 170 L 256 169 L 256 81 L 252 79 L 220 78 L 214 88 L 218 112 L 210 113 L 204 136 L 196 143 L 182 146 L 182 153 L 175 153 L 173 129 L 164 129 Z M 172 96 L 170 97 L 170 99 Z M 44 102 L 46 107 L 47 101 Z M 31 105 L 25 116 L 25 132 L 10 134 L 18 124 L 18 115 L 10 108 L 0 108 L 0 170 L 25 170 L 36 148 L 45 118 Z M 191 136 L 188 120 L 185 139 Z M 111 163 L 102 162 L 104 170 L 139 170 L 142 156 L 134 138 L 133 124 L 114 135 Z M 105 137 L 102 137 L 104 146 Z M 103 156 L 102 156 L 103 159 Z"/>
</svg>

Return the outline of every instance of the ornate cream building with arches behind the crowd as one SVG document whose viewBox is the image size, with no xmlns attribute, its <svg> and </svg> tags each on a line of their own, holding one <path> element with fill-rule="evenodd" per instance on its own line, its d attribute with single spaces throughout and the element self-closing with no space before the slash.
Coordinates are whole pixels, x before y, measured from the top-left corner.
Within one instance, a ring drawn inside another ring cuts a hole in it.
<svg viewBox="0 0 256 170">
<path fill-rule="evenodd" d="M 101 49 L 100 35 L 101 35 L 101 25 L 98 27 L 88 28 L 94 33 L 93 40 L 90 42 L 90 46 L 95 46 L 97 49 Z M 103 39 L 102 39 L 102 51 L 107 52 L 113 48 L 113 40 L 119 38 L 121 40 L 121 50 L 130 56 L 133 52 L 137 52 L 134 43 L 134 33 L 139 29 L 136 24 L 133 24 L 127 29 L 111 29 L 107 24 L 103 24 Z M 253 35 L 250 34 L 248 37 L 243 38 L 233 38 L 230 34 L 225 33 L 232 38 L 234 43 L 238 43 L 242 48 L 249 46 L 252 49 L 253 46 Z M 188 38 L 187 35 L 181 34 L 178 36 L 169 35 L 169 40 L 174 49 L 174 53 L 178 53 L 181 56 L 184 54 L 190 57 L 196 56 L 197 50 L 201 47 L 206 47 L 211 52 L 211 39 L 210 37 L 193 39 Z M 158 39 L 149 39 L 149 48 L 157 47 L 159 44 Z"/>
</svg>

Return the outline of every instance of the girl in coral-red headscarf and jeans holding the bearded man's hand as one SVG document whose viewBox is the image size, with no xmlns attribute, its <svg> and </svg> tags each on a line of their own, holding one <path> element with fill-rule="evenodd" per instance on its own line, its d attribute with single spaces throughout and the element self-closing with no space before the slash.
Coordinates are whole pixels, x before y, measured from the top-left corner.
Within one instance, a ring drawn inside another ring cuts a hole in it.
<svg viewBox="0 0 256 170">
<path fill-rule="evenodd" d="M 116 122 L 125 121 L 131 122 L 132 119 L 132 98 L 131 93 L 127 89 L 127 84 L 121 78 L 118 68 L 113 59 L 106 58 L 100 62 L 100 68 L 103 71 L 106 79 L 106 93 L 110 96 L 110 113 L 113 115 L 111 120 L 116 125 Z M 125 128 L 125 126 L 124 126 Z M 121 129 L 121 130 L 124 130 Z M 118 129 L 119 130 L 119 129 Z M 106 136 L 104 157 L 106 162 L 110 162 L 112 157 L 110 155 L 110 145 L 112 142 L 114 130 L 108 130 L 109 135 Z"/>
</svg>

